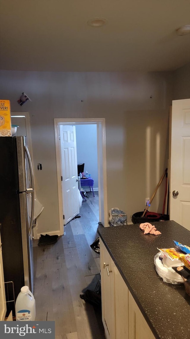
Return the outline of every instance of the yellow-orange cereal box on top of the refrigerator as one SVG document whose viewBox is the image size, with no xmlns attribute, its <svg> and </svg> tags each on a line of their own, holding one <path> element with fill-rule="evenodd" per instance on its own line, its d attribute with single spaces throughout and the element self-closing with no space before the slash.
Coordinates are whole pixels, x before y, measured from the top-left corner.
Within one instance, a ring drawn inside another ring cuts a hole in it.
<svg viewBox="0 0 190 339">
<path fill-rule="evenodd" d="M 10 101 L 0 100 L 0 137 L 11 137 Z"/>
</svg>

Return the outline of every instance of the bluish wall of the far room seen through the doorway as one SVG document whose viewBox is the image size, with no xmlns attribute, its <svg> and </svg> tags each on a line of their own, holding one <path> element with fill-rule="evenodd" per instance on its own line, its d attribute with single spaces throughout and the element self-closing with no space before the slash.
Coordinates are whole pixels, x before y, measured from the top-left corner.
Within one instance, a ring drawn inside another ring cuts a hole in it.
<svg viewBox="0 0 190 339">
<path fill-rule="evenodd" d="M 78 164 L 85 163 L 84 172 L 91 174 L 94 189 L 98 191 L 97 126 L 76 125 L 76 147 Z M 86 187 L 87 189 L 87 187 Z M 87 189 L 88 191 L 88 189 Z"/>
</svg>

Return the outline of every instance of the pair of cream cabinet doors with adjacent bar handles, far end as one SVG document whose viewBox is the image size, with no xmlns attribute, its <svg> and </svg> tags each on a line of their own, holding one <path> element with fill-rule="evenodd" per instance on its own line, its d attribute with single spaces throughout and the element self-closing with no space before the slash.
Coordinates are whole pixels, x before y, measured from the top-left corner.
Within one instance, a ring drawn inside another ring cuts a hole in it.
<svg viewBox="0 0 190 339">
<path fill-rule="evenodd" d="M 102 322 L 106 339 L 128 339 L 128 288 L 100 239 Z"/>
</svg>

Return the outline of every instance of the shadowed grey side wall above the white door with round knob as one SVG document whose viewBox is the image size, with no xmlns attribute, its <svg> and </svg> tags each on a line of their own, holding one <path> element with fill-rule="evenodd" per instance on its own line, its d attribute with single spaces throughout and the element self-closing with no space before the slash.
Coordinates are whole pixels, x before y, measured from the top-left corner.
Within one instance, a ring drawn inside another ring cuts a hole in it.
<svg viewBox="0 0 190 339">
<path fill-rule="evenodd" d="M 190 98 L 190 62 L 177 68 L 174 73 L 173 100 Z"/>
</svg>

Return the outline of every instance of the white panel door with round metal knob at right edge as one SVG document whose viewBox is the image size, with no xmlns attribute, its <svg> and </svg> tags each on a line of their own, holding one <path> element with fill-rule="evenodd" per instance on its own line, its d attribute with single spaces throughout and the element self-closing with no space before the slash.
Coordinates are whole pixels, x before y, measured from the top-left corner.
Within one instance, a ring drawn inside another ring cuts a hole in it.
<svg viewBox="0 0 190 339">
<path fill-rule="evenodd" d="M 170 220 L 190 230 L 190 99 L 172 102 Z"/>
</svg>

